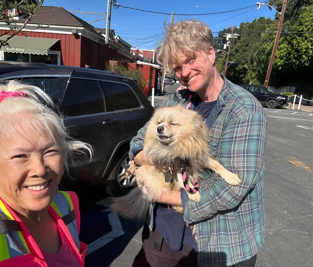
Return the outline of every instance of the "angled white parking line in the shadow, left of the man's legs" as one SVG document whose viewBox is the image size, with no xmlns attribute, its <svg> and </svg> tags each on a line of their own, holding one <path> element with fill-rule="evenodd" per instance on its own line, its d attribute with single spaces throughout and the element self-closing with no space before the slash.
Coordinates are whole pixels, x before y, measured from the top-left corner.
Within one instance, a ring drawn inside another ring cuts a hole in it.
<svg viewBox="0 0 313 267">
<path fill-rule="evenodd" d="M 108 219 L 109 219 L 110 225 L 112 227 L 112 231 L 110 231 L 109 233 L 107 233 L 105 235 L 102 235 L 97 240 L 88 244 L 86 255 L 94 252 L 95 250 L 102 248 L 103 246 L 110 243 L 115 238 L 119 237 L 120 235 L 125 234 L 125 232 L 123 230 L 123 226 L 121 224 L 121 221 L 115 212 L 110 212 L 108 214 Z"/>
</svg>

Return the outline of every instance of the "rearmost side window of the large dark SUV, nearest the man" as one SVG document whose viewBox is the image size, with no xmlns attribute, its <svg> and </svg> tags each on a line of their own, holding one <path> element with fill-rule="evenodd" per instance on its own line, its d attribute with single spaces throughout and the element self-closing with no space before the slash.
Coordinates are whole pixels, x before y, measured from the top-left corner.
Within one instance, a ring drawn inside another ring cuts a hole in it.
<svg viewBox="0 0 313 267">
<path fill-rule="evenodd" d="M 141 104 L 130 86 L 102 81 L 108 97 L 105 98 L 106 111 L 140 108 Z"/>
</svg>

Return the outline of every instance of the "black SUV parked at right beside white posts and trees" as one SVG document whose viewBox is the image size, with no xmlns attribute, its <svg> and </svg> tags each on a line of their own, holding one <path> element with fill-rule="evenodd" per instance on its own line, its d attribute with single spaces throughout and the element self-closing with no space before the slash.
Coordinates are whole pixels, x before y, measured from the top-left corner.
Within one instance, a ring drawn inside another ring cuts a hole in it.
<svg viewBox="0 0 313 267">
<path fill-rule="evenodd" d="M 261 85 L 239 85 L 249 91 L 252 95 L 256 97 L 257 100 L 269 109 L 275 109 L 280 107 L 285 107 L 289 105 L 289 97 L 285 95 L 279 95 L 274 93 L 269 88 Z"/>
</svg>

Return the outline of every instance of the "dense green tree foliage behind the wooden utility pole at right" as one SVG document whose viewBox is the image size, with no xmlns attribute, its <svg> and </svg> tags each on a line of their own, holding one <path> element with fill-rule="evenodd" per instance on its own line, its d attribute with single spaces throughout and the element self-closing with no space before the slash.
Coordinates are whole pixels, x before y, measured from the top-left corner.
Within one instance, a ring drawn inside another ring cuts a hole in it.
<svg viewBox="0 0 313 267">
<path fill-rule="evenodd" d="M 310 98 L 313 96 L 313 0 L 287 2 L 269 85 L 276 88 L 295 86 L 297 94 Z M 270 4 L 281 11 L 281 0 L 272 0 Z M 279 16 L 273 20 L 259 17 L 252 22 L 240 24 L 236 32 L 240 36 L 232 42 L 229 58 L 229 61 L 238 63 L 238 66 L 231 65 L 228 68 L 228 79 L 237 84 L 264 83 Z M 225 35 L 225 32 L 230 31 L 223 30 L 219 37 Z M 223 43 L 225 42 L 223 37 Z"/>
</svg>

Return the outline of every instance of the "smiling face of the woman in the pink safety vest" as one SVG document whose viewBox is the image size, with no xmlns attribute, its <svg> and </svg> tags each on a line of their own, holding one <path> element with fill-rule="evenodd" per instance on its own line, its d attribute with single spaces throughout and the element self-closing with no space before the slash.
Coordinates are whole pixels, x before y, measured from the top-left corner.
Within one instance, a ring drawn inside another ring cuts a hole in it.
<svg viewBox="0 0 313 267">
<path fill-rule="evenodd" d="M 0 197 L 21 214 L 42 211 L 61 180 L 62 153 L 53 138 L 43 138 L 22 122 L 16 127 L 17 134 L 0 138 Z"/>
</svg>

